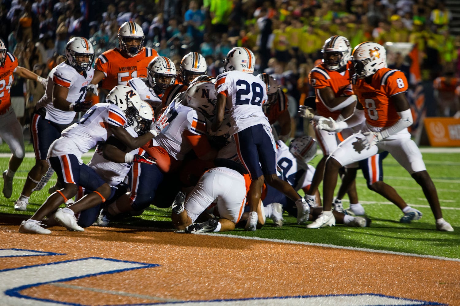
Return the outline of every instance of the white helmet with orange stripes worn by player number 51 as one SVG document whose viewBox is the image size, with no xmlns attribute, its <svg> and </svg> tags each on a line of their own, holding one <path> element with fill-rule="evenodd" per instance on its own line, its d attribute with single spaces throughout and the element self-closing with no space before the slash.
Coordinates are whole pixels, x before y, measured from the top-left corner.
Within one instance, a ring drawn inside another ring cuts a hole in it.
<svg viewBox="0 0 460 306">
<path fill-rule="evenodd" d="M 144 46 L 144 31 L 136 22 L 127 21 L 118 29 L 118 48 L 127 56 L 136 56 Z"/>
</svg>

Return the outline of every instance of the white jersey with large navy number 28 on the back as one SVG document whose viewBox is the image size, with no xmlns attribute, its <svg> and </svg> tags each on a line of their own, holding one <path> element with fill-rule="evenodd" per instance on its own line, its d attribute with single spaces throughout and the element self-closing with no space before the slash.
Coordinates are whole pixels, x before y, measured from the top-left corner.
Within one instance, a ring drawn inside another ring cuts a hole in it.
<svg viewBox="0 0 460 306">
<path fill-rule="evenodd" d="M 216 96 L 225 92 L 231 97 L 232 104 L 227 103 L 230 110 L 230 135 L 257 124 L 270 127 L 262 106 L 267 101 L 267 89 L 260 78 L 240 71 L 221 73 L 216 79 Z"/>
</svg>

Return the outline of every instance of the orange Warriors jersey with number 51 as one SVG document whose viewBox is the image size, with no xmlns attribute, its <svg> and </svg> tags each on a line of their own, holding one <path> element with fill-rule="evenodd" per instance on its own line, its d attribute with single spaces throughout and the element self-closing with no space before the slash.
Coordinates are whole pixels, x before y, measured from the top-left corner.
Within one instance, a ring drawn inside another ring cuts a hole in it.
<svg viewBox="0 0 460 306">
<path fill-rule="evenodd" d="M 155 56 L 158 53 L 147 47 L 133 57 L 122 56 L 118 48 L 105 51 L 96 60 L 94 68 L 104 72 L 101 88 L 111 90 L 116 85 L 126 85 L 132 78 L 147 78 L 147 66 Z"/>
</svg>

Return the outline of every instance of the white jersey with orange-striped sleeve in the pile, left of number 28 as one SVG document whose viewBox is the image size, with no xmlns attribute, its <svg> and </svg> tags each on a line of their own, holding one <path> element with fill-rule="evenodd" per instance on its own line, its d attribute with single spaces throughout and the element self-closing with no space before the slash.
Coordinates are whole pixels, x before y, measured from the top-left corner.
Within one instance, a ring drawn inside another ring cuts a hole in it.
<svg viewBox="0 0 460 306">
<path fill-rule="evenodd" d="M 183 106 L 177 116 L 152 139 L 153 145 L 163 147 L 176 160 L 184 160 L 184 155 L 193 150 L 190 143 L 183 139 L 182 133 L 206 135 L 204 116 L 189 106 Z"/>
</svg>

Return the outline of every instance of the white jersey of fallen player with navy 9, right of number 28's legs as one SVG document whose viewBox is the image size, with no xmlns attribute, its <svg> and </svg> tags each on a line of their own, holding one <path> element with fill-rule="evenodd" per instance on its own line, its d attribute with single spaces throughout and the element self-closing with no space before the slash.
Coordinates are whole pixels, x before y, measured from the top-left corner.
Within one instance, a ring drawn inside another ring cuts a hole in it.
<svg viewBox="0 0 460 306">
<path fill-rule="evenodd" d="M 276 166 L 282 179 L 296 191 L 310 185 L 315 174 L 315 167 L 298 162 L 281 140 L 276 141 Z"/>
</svg>

